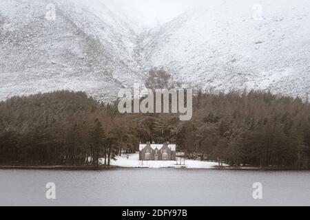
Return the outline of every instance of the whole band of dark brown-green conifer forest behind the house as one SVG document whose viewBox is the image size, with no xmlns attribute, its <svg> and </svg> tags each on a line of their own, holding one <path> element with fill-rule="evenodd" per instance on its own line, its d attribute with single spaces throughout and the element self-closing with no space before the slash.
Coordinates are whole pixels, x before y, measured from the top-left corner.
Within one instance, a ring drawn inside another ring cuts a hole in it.
<svg viewBox="0 0 310 220">
<path fill-rule="evenodd" d="M 309 102 L 263 91 L 198 91 L 193 105 L 192 120 L 180 122 L 177 114 L 121 114 L 117 102 L 83 92 L 13 97 L 0 102 L 0 164 L 110 166 L 140 142 L 171 142 L 192 159 L 310 168 Z"/>
</svg>

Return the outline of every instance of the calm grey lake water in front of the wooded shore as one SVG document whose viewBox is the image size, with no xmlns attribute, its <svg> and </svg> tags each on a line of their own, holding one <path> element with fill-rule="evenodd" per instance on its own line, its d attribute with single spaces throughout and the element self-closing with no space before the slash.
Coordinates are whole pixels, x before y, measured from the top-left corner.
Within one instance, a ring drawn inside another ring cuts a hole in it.
<svg viewBox="0 0 310 220">
<path fill-rule="evenodd" d="M 48 182 L 56 199 L 45 198 Z M 253 199 L 255 182 L 263 199 Z M 1 206 L 310 206 L 310 172 L 0 170 Z"/>
</svg>

